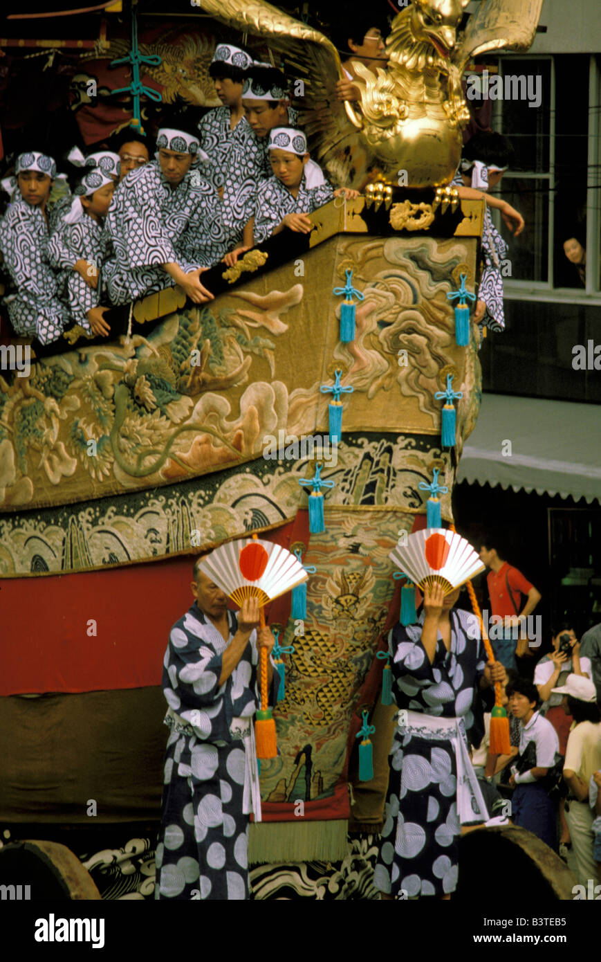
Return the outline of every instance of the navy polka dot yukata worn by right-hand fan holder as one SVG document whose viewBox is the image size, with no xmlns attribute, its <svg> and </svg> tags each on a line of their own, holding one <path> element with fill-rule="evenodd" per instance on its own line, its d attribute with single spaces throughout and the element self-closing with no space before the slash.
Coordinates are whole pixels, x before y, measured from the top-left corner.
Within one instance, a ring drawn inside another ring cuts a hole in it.
<svg viewBox="0 0 601 962">
<path fill-rule="evenodd" d="M 450 620 L 450 651 L 438 634 L 432 665 L 421 643 L 423 615 L 417 624 L 396 625 L 388 636 L 393 696 L 399 708 L 409 709 L 413 719 L 394 732 L 386 823 L 374 873 L 375 887 L 395 897 L 400 890 L 409 897 L 441 896 L 457 886 L 456 751 L 449 722 L 437 726 L 436 719 L 462 719 L 468 740 L 480 745 L 484 735 L 480 679 L 486 658 L 480 638 L 473 637 L 473 616 L 454 609 Z M 423 728 L 414 721 L 413 713 L 430 716 L 424 718 Z M 460 777 L 465 790 L 470 790 L 466 778 Z M 470 805 L 478 811 L 473 795 Z"/>
</svg>

